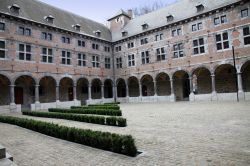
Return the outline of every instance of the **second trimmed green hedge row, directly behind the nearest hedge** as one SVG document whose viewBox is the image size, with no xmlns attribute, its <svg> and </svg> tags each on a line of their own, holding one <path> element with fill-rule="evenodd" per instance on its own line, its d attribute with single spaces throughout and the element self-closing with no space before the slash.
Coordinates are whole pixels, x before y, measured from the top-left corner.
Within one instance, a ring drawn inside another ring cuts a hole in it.
<svg viewBox="0 0 250 166">
<path fill-rule="evenodd" d="M 95 123 L 101 125 L 110 126 L 127 126 L 127 121 L 121 117 L 104 117 L 104 116 L 89 116 L 89 115 L 77 115 L 77 114 L 66 114 L 57 112 L 34 112 L 34 111 L 23 111 L 23 115 L 56 118 L 56 119 L 67 119 L 79 122 Z"/>
</svg>

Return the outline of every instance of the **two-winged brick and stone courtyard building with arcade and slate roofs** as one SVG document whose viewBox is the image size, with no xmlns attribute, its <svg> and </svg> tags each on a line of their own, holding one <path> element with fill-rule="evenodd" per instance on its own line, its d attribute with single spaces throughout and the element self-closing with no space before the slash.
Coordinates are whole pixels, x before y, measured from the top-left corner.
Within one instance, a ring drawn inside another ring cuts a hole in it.
<svg viewBox="0 0 250 166">
<path fill-rule="evenodd" d="M 135 18 L 120 10 L 108 24 L 1 0 L 1 110 L 250 100 L 249 1 L 181 0 Z"/>
</svg>

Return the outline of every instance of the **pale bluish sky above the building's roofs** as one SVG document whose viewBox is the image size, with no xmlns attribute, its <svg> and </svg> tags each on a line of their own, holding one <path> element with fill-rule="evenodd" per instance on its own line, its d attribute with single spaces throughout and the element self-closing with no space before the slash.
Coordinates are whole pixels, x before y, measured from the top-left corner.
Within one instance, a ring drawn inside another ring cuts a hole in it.
<svg viewBox="0 0 250 166">
<path fill-rule="evenodd" d="M 119 9 L 150 5 L 155 1 L 171 4 L 176 0 L 40 0 L 58 8 L 87 17 L 100 23 L 115 15 Z"/>
</svg>

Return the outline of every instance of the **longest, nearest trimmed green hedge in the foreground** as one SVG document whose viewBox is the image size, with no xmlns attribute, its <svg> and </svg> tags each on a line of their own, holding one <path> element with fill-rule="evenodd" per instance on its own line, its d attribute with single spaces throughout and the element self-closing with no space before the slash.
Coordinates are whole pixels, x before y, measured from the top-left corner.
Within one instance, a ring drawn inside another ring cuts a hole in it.
<svg viewBox="0 0 250 166">
<path fill-rule="evenodd" d="M 0 122 L 17 125 L 52 137 L 128 156 L 136 156 L 137 153 L 137 148 L 131 135 L 77 129 L 11 116 L 0 116 Z"/>
</svg>

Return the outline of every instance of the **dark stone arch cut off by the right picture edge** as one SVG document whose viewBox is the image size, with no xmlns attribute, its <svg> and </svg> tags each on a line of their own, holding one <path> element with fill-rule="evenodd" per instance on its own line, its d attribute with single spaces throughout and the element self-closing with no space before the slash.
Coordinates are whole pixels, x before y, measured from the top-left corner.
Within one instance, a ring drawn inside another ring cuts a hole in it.
<svg viewBox="0 0 250 166">
<path fill-rule="evenodd" d="M 241 66 L 242 88 L 244 92 L 250 92 L 250 60 Z"/>
</svg>

